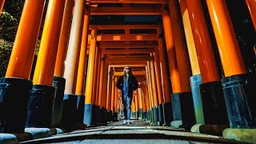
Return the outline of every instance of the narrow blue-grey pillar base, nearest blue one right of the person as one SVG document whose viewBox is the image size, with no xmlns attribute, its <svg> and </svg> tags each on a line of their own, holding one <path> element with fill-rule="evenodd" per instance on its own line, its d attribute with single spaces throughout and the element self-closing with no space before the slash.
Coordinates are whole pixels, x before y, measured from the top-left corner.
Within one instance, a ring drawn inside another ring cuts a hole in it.
<svg viewBox="0 0 256 144">
<path fill-rule="evenodd" d="M 181 104 L 179 100 L 179 94 L 178 93 L 170 94 L 170 97 L 171 97 L 171 106 L 173 110 L 174 121 L 180 121 L 182 120 L 182 110 L 181 110 Z"/>
</svg>

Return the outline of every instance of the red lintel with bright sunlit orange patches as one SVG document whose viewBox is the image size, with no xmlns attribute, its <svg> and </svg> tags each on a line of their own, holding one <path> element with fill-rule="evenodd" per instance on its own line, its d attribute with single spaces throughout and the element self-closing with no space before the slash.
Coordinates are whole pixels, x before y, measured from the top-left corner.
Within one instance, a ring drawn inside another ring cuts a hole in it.
<svg viewBox="0 0 256 144">
<path fill-rule="evenodd" d="M 90 41 L 91 35 L 88 35 Z M 158 41 L 157 34 L 99 34 L 97 41 Z M 88 42 L 90 43 L 90 42 Z"/>
</svg>

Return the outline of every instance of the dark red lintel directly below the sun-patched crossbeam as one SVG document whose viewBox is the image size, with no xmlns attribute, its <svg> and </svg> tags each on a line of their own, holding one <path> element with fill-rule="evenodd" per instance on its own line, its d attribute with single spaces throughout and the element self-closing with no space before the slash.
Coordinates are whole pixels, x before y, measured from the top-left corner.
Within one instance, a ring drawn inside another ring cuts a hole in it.
<svg viewBox="0 0 256 144">
<path fill-rule="evenodd" d="M 99 48 L 105 49 L 105 48 L 154 48 L 157 46 L 157 42 L 99 42 Z"/>
</svg>

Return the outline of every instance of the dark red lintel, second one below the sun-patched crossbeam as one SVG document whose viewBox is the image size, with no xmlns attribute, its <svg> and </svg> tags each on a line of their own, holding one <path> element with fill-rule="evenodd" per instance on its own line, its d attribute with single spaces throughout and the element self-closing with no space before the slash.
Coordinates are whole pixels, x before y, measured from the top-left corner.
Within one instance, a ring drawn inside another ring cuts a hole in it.
<svg viewBox="0 0 256 144">
<path fill-rule="evenodd" d="M 148 54 L 152 52 L 154 52 L 154 49 L 102 50 L 102 54 Z"/>
</svg>

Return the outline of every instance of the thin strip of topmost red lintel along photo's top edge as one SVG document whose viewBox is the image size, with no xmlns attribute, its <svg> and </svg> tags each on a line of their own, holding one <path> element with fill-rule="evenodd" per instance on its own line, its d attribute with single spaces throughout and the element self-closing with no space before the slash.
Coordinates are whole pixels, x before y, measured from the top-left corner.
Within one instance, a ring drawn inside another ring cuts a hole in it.
<svg viewBox="0 0 256 144">
<path fill-rule="evenodd" d="M 87 0 L 94 3 L 145 3 L 145 4 L 167 4 L 167 0 Z"/>
</svg>

